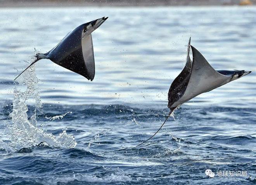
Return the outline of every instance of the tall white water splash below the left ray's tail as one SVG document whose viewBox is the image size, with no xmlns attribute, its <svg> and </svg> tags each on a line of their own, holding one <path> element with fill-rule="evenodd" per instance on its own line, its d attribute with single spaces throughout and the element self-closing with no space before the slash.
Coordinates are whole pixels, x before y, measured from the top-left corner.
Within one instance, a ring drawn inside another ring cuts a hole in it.
<svg viewBox="0 0 256 185">
<path fill-rule="evenodd" d="M 41 142 L 46 142 L 50 147 L 75 147 L 74 137 L 67 135 L 66 130 L 63 130 L 59 137 L 55 137 L 37 127 L 36 112 L 42 109 L 42 102 L 35 65 L 31 66 L 17 80 L 22 86 L 14 89 L 13 111 L 10 113 L 12 119 L 6 123 L 4 130 L 5 138 L 8 140 L 8 142 L 4 142 L 5 145 L 2 145 L 4 149 L 7 152 L 16 152 L 22 148 L 34 147 Z M 28 119 L 27 101 L 30 97 L 35 101 L 35 110 L 33 116 Z"/>
</svg>

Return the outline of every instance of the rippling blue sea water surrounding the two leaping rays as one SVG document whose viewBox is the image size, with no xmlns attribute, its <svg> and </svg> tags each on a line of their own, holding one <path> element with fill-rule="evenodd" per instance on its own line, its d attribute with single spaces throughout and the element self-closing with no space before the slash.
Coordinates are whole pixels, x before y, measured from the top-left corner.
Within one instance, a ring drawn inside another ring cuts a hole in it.
<svg viewBox="0 0 256 185">
<path fill-rule="evenodd" d="M 256 176 L 255 7 L 0 10 L 0 184 L 254 184 L 246 178 Z M 9 117 L 19 97 L 14 88 L 26 89 L 13 82 L 24 60 L 34 47 L 47 52 L 76 26 L 103 16 L 109 19 L 92 34 L 93 82 L 39 61 L 41 98 L 35 92 L 28 99 L 28 117 L 38 99 L 43 107 L 37 123 L 29 119 L 34 127 L 17 131 L 28 122 L 26 104 Z M 215 69 L 253 73 L 182 105 L 176 121 L 135 147 L 168 113 L 167 93 L 190 36 Z M 75 141 L 60 137 L 63 130 Z M 50 144 L 35 146 L 45 139 Z M 248 176 L 209 179 L 206 169 Z"/>
</svg>

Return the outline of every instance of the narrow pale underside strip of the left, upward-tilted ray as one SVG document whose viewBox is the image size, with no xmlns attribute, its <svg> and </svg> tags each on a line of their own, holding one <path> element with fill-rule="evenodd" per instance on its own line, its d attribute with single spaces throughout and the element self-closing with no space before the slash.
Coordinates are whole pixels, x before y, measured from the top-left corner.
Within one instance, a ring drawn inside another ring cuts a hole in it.
<svg viewBox="0 0 256 185">
<path fill-rule="evenodd" d="M 94 54 L 93 54 L 93 44 L 92 44 L 92 34 L 82 38 L 82 51 L 83 59 L 85 61 L 85 66 L 90 77 L 93 80 L 95 75 L 95 64 L 94 64 Z"/>
</svg>

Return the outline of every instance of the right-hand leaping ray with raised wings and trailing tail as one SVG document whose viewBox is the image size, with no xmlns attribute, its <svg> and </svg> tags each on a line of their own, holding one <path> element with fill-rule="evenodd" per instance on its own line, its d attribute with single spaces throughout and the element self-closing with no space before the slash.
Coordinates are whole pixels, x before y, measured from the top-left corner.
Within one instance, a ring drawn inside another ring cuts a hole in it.
<svg viewBox="0 0 256 185">
<path fill-rule="evenodd" d="M 213 69 L 213 67 L 206 61 L 204 56 L 196 48 L 190 45 L 190 40 L 191 38 L 189 38 L 187 62 L 185 67 L 183 68 L 182 72 L 175 78 L 168 92 L 168 108 L 171 111 L 168 114 L 166 120 L 180 105 L 196 97 L 197 95 L 204 92 L 209 92 L 230 81 L 237 80 L 238 78 L 251 73 L 251 71 L 244 70 L 230 71 Z M 190 48 L 193 55 L 192 61 L 189 56 Z M 156 135 L 157 132 L 163 127 L 164 123 L 154 135 Z M 154 135 L 152 135 L 152 137 L 154 137 Z M 141 144 L 144 144 L 148 140 Z"/>
</svg>

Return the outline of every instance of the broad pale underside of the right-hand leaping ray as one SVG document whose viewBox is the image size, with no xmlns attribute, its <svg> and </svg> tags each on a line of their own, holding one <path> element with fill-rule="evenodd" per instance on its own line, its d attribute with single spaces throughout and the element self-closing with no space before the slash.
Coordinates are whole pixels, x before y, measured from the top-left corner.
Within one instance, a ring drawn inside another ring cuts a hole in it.
<svg viewBox="0 0 256 185">
<path fill-rule="evenodd" d="M 208 92 L 224 85 L 228 83 L 232 77 L 218 73 L 211 67 L 199 51 L 193 46 L 191 46 L 191 48 L 193 61 L 189 83 L 185 93 L 177 102 L 175 102 L 175 105 L 181 105 L 201 93 Z"/>
</svg>

